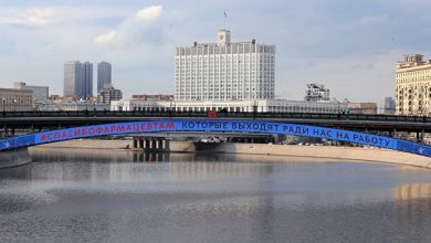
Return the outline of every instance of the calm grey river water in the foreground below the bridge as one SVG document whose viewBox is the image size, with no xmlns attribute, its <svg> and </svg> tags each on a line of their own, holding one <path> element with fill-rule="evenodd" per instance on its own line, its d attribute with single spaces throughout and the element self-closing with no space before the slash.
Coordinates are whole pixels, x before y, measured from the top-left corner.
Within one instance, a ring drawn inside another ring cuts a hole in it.
<svg viewBox="0 0 431 243">
<path fill-rule="evenodd" d="M 431 170 L 38 149 L 0 170 L 0 242 L 431 242 Z"/>
</svg>

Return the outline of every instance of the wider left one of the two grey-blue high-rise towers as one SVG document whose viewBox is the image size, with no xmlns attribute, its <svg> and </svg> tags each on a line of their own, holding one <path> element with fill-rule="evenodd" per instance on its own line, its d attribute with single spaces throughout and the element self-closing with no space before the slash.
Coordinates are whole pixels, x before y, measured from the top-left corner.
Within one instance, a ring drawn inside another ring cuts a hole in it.
<svg viewBox="0 0 431 243">
<path fill-rule="evenodd" d="M 64 96 L 93 96 L 93 64 L 69 61 L 64 63 Z"/>
</svg>

